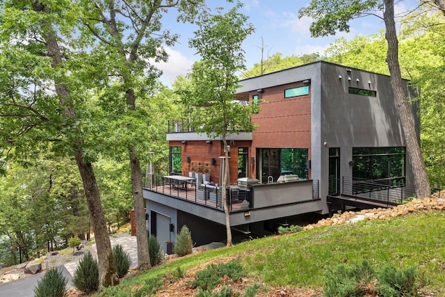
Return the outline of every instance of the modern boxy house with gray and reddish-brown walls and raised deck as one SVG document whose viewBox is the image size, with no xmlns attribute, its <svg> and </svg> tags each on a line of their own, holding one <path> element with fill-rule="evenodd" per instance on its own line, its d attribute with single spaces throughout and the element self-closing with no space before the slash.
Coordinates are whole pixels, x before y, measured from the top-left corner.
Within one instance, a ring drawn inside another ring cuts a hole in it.
<svg viewBox="0 0 445 297">
<path fill-rule="evenodd" d="M 170 175 L 144 189 L 149 230 L 161 246 L 175 243 L 183 225 L 197 244 L 225 239 L 218 186 L 225 150 L 234 236 L 267 234 L 335 207 L 391 207 L 414 195 L 388 76 L 320 61 L 240 83 L 236 99 L 256 108 L 258 127 L 230 135 L 228 147 L 186 120 L 170 122 Z M 412 104 L 419 133 L 418 110 Z"/>
</svg>

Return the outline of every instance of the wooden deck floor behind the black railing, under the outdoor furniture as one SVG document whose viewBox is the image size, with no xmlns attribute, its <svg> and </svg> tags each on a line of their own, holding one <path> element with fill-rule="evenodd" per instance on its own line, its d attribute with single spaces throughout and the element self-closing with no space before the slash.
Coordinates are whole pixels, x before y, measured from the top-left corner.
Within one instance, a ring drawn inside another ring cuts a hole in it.
<svg viewBox="0 0 445 297">
<path fill-rule="evenodd" d="M 176 184 L 164 184 L 153 186 L 152 188 L 145 188 L 145 190 L 161 193 L 169 198 L 186 200 L 195 204 L 204 205 L 205 207 L 224 211 L 220 193 L 213 193 L 211 188 L 206 188 L 201 191 L 196 189 L 195 184 L 181 184 L 180 186 Z M 206 197 L 206 199 L 204 199 L 204 197 Z M 238 195 L 235 195 L 235 197 L 232 196 L 232 201 L 229 203 L 229 211 L 245 211 L 248 209 L 250 209 L 248 201 L 244 201 L 243 198 L 240 199 Z"/>
</svg>

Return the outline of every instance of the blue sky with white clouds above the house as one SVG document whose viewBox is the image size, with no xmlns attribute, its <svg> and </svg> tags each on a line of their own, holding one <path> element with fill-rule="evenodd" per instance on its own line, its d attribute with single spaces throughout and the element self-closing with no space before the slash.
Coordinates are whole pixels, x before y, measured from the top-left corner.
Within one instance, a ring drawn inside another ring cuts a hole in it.
<svg viewBox="0 0 445 297">
<path fill-rule="evenodd" d="M 243 43 L 245 65 L 248 69 L 261 61 L 261 38 L 264 42 L 264 58 L 280 52 L 283 56 L 301 56 L 302 54 L 318 53 L 323 55 L 325 49 L 337 38 L 353 40 L 357 35 L 378 33 L 385 28 L 378 17 L 362 17 L 350 22 L 350 32 L 337 32 L 334 36 L 312 38 L 309 26 L 312 19 L 298 19 L 298 10 L 309 4 L 309 0 L 241 0 L 244 3 L 240 13 L 249 17 L 255 32 Z M 416 0 L 395 1 L 395 14 L 401 14 L 416 6 Z M 225 0 L 207 0 L 208 6 L 229 7 Z M 192 24 L 176 22 L 175 14 L 163 18 L 163 26 L 172 33 L 179 33 L 180 38 L 175 47 L 166 47 L 170 56 L 168 63 L 157 65 L 163 71 L 161 81 L 170 86 L 178 75 L 185 75 L 199 56 L 188 47 L 188 40 L 193 38 L 197 28 Z"/>
</svg>

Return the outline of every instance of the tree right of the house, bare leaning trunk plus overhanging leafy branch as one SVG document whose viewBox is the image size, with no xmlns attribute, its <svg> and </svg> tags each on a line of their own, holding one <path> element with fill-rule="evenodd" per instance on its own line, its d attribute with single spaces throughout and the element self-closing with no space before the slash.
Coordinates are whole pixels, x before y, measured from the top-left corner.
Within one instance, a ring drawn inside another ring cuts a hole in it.
<svg viewBox="0 0 445 297">
<path fill-rule="evenodd" d="M 391 74 L 391 88 L 394 100 L 401 119 L 403 134 L 407 143 L 407 152 L 410 156 L 416 194 L 419 198 L 430 196 L 430 183 L 426 172 L 425 162 L 421 153 L 419 141 L 417 141 L 414 119 L 410 112 L 407 95 L 403 88 L 401 69 L 398 62 L 398 38 L 396 34 L 396 22 L 394 19 L 394 0 L 312 0 L 309 6 L 301 8 L 299 17 L 307 15 L 314 19 L 310 26 L 311 35 L 314 37 L 334 35 L 336 30 L 349 31 L 349 20 L 354 17 L 375 15 L 375 10 L 383 10 L 388 50 L 387 64 Z M 380 17 L 380 16 L 378 16 Z"/>
</svg>

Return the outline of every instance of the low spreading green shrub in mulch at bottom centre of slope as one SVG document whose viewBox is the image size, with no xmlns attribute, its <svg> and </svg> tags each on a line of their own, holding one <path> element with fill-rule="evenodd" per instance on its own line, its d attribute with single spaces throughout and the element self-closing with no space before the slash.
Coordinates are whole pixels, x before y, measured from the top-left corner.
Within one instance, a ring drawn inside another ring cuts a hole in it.
<svg viewBox="0 0 445 297">
<path fill-rule="evenodd" d="M 205 269 L 195 274 L 195 280 L 191 282 L 191 287 L 199 287 L 204 291 L 212 290 L 216 287 L 216 284 L 223 282 L 224 275 L 237 281 L 243 276 L 243 266 L 238 262 L 207 265 Z"/>
</svg>

